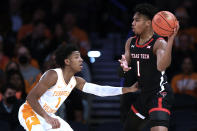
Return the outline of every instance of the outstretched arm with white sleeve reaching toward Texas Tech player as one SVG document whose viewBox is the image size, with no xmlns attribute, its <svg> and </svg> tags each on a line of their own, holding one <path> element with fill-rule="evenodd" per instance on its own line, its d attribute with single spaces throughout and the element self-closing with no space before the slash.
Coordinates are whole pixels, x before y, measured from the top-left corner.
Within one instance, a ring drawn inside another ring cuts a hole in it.
<svg viewBox="0 0 197 131">
<path fill-rule="evenodd" d="M 77 85 L 76 88 L 79 90 L 94 94 L 97 96 L 116 96 L 129 92 L 136 92 L 138 90 L 138 83 L 136 82 L 131 87 L 123 88 L 123 87 L 113 87 L 113 86 L 101 86 L 93 83 L 86 82 L 81 77 L 76 77 Z"/>
</svg>

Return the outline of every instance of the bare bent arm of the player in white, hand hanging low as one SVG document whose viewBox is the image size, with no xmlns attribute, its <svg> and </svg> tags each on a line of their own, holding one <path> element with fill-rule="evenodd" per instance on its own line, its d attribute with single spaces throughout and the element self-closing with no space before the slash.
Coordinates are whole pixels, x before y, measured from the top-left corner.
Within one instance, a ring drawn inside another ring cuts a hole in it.
<svg viewBox="0 0 197 131">
<path fill-rule="evenodd" d="M 57 81 L 57 73 L 53 70 L 46 72 L 43 77 L 41 77 L 38 84 L 30 91 L 27 96 L 27 102 L 30 104 L 32 109 L 42 116 L 47 123 L 51 124 L 52 128 L 59 128 L 60 122 L 56 118 L 50 117 L 45 110 L 41 107 L 38 99 L 46 92 L 47 89 L 55 85 Z"/>
</svg>

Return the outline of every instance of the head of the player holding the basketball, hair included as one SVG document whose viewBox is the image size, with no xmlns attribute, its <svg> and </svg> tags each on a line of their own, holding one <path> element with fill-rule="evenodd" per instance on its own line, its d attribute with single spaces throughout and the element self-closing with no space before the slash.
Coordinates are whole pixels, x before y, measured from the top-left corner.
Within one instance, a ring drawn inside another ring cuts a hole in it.
<svg viewBox="0 0 197 131">
<path fill-rule="evenodd" d="M 134 10 L 132 29 L 136 35 L 140 35 L 144 30 L 152 28 L 152 19 L 157 13 L 157 9 L 151 4 L 139 4 Z"/>
</svg>

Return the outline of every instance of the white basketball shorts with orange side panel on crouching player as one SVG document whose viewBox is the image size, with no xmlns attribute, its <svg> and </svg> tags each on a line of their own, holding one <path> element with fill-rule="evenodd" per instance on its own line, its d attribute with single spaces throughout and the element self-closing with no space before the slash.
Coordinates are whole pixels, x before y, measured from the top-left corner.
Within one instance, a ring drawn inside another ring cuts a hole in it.
<svg viewBox="0 0 197 131">
<path fill-rule="evenodd" d="M 26 131 L 73 131 L 69 124 L 59 116 L 55 114 L 51 114 L 50 116 L 59 120 L 60 128 L 52 129 L 52 126 L 43 117 L 36 114 L 27 103 L 21 105 L 18 112 L 19 122 Z"/>
</svg>

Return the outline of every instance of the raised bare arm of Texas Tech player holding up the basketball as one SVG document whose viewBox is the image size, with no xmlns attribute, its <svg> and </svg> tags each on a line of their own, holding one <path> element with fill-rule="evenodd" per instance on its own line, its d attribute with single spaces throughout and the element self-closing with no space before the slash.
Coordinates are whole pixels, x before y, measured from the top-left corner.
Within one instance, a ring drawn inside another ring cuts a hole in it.
<svg viewBox="0 0 197 131">
<path fill-rule="evenodd" d="M 174 33 L 168 37 L 168 42 L 164 39 L 157 40 L 154 45 L 154 53 L 157 56 L 157 69 L 159 71 L 165 71 L 166 68 L 171 63 L 171 53 L 174 38 L 179 30 L 179 23 L 177 23 L 177 27 L 174 29 Z"/>
</svg>

